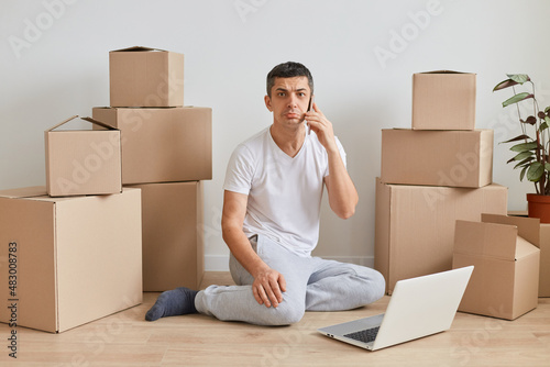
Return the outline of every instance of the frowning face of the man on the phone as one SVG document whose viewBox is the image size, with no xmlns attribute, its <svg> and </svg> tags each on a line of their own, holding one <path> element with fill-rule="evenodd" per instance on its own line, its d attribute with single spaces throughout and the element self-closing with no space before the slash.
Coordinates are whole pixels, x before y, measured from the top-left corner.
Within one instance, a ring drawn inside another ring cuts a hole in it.
<svg viewBox="0 0 550 367">
<path fill-rule="evenodd" d="M 308 110 L 310 96 L 307 77 L 275 78 L 271 97 L 265 96 L 265 105 L 273 112 L 274 123 L 298 126 Z"/>
</svg>

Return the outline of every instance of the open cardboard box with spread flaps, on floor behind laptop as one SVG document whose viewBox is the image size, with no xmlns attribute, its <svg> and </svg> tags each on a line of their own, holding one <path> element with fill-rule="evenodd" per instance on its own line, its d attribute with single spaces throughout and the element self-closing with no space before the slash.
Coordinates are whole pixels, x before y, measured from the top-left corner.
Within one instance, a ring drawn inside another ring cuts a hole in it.
<svg viewBox="0 0 550 367">
<path fill-rule="evenodd" d="M 536 219 L 482 215 L 482 222 L 457 221 L 453 268 L 474 266 L 459 311 L 514 320 L 537 308 L 539 231 Z"/>
</svg>

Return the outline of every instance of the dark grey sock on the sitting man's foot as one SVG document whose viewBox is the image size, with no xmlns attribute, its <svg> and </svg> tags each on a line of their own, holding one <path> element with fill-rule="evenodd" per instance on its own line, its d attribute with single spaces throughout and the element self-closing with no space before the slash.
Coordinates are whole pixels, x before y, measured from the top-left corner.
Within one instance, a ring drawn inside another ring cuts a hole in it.
<svg viewBox="0 0 550 367">
<path fill-rule="evenodd" d="M 197 313 L 197 309 L 195 308 L 195 297 L 197 293 L 197 290 L 185 287 L 161 293 L 155 304 L 145 314 L 145 320 L 155 321 L 166 316 Z"/>
</svg>

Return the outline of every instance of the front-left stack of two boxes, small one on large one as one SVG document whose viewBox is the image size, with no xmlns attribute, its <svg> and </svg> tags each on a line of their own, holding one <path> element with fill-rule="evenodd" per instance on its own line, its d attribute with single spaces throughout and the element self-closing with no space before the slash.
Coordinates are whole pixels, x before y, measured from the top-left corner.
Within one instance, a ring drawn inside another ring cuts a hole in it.
<svg viewBox="0 0 550 367">
<path fill-rule="evenodd" d="M 120 131 L 67 130 L 76 118 L 45 132 L 45 188 L 0 192 L 12 327 L 63 332 L 142 302 L 141 193 L 122 188 Z"/>
</svg>

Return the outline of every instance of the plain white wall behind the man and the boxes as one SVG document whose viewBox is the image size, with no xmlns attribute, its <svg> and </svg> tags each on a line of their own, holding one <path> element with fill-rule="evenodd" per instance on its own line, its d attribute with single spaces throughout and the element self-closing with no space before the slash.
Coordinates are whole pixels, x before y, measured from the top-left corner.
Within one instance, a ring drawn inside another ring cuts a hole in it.
<svg viewBox="0 0 550 367">
<path fill-rule="evenodd" d="M 348 221 L 324 203 L 317 255 L 363 264 L 374 252 L 380 130 L 410 125 L 413 73 L 476 73 L 476 126 L 495 129 L 496 142 L 519 133 L 514 111 L 501 107 L 506 92 L 492 92 L 506 73 L 529 74 L 550 102 L 544 0 L 7 0 L 0 14 L 0 189 L 44 185 L 43 131 L 109 104 L 109 51 L 144 45 L 185 54 L 185 104 L 213 109 L 208 269 L 227 268 L 220 214 L 228 157 L 271 123 L 265 75 L 278 63 L 310 68 L 361 197 Z M 382 49 L 385 59 L 376 56 Z M 506 166 L 507 149 L 495 147 L 494 180 L 509 187 L 509 209 L 519 210 L 532 187 Z"/>
</svg>

